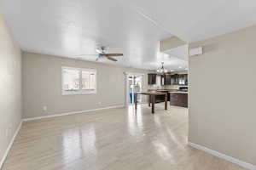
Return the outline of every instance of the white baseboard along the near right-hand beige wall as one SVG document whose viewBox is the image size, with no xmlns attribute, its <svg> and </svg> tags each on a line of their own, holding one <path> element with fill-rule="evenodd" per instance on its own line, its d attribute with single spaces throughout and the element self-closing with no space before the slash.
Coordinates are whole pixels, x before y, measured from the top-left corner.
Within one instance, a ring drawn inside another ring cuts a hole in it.
<svg viewBox="0 0 256 170">
<path fill-rule="evenodd" d="M 195 149 L 197 149 L 197 150 L 203 150 L 203 151 L 205 151 L 205 152 L 207 152 L 207 153 L 209 153 L 209 154 L 211 154 L 213 156 L 217 156 L 217 157 L 219 157 L 221 159 L 224 159 L 226 161 L 230 161 L 232 163 L 235 163 L 236 165 L 239 165 L 241 167 L 245 167 L 245 168 L 247 168 L 249 170 L 256 170 L 256 166 L 251 164 L 251 163 L 247 163 L 245 161 L 238 160 L 238 159 L 236 159 L 234 157 L 231 157 L 231 156 L 226 156 L 226 155 L 224 155 L 222 153 L 219 153 L 216 150 L 208 149 L 207 147 L 202 146 L 200 144 L 194 144 L 194 143 L 189 142 L 188 145 L 193 147 L 193 148 L 195 148 Z"/>
</svg>

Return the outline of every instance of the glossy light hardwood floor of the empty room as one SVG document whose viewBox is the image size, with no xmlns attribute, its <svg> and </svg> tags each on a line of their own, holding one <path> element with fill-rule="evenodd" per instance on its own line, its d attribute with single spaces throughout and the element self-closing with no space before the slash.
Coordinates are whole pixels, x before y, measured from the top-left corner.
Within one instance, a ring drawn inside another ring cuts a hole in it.
<svg viewBox="0 0 256 170">
<path fill-rule="evenodd" d="M 188 110 L 147 105 L 24 122 L 3 170 L 239 170 L 187 145 Z"/>
</svg>

